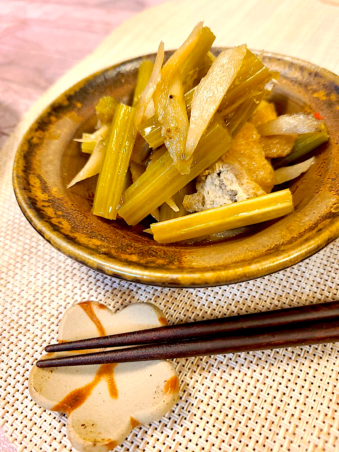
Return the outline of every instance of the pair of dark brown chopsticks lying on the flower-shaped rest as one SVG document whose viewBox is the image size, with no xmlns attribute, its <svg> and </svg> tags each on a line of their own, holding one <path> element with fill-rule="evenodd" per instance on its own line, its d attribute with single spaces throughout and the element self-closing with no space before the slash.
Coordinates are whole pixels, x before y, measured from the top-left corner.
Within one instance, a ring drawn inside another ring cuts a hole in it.
<svg viewBox="0 0 339 452">
<path fill-rule="evenodd" d="M 46 352 L 129 347 L 42 358 L 37 366 L 126 363 L 336 341 L 339 341 L 339 301 L 331 301 L 51 344 Z"/>
</svg>

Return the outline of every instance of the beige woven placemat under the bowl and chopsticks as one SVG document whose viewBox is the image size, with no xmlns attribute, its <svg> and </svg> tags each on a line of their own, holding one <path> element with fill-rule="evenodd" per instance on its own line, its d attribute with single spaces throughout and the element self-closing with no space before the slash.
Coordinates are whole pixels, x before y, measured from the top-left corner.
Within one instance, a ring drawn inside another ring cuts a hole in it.
<svg viewBox="0 0 339 452">
<path fill-rule="evenodd" d="M 166 289 L 108 278 L 63 256 L 23 217 L 11 188 L 15 148 L 57 94 L 118 61 L 177 47 L 200 19 L 217 45 L 297 56 L 339 72 L 336 2 L 194 1 L 135 16 L 33 106 L 1 153 L 0 424 L 18 451 L 70 451 L 65 416 L 42 410 L 28 373 L 61 315 L 93 299 L 114 311 L 151 301 L 169 322 L 264 311 L 337 299 L 336 241 L 310 259 L 251 282 L 207 289 Z M 119 451 L 339 451 L 339 346 L 325 344 L 176 360 L 180 399 L 167 416 L 135 428 Z M 0 444 L 1 447 L 1 444 Z"/>
</svg>

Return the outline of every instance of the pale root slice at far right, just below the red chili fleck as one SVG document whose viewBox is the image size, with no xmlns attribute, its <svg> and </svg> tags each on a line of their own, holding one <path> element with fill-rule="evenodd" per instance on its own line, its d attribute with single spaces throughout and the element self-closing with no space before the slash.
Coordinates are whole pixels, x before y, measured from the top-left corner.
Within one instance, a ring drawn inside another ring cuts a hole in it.
<svg viewBox="0 0 339 452">
<path fill-rule="evenodd" d="M 260 135 L 294 135 L 308 132 L 320 132 L 322 122 L 312 114 L 283 114 L 258 127 Z"/>
</svg>

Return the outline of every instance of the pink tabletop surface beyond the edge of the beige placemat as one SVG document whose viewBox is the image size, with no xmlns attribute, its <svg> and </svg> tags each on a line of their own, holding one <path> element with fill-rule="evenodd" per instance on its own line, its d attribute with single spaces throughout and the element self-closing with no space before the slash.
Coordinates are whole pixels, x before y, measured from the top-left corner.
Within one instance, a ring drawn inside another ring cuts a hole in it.
<svg viewBox="0 0 339 452">
<path fill-rule="evenodd" d="M 0 146 L 42 93 L 113 28 L 164 1 L 1 0 Z M 15 451 L 2 428 L 0 451 Z"/>
</svg>

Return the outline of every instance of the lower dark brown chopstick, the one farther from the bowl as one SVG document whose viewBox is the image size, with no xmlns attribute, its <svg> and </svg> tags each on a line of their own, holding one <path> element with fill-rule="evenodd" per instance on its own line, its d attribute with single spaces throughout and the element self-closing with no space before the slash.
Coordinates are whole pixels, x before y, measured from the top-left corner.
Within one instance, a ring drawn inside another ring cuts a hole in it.
<svg viewBox="0 0 339 452">
<path fill-rule="evenodd" d="M 141 345 L 139 347 L 42 359 L 38 367 L 81 366 L 85 364 L 125 363 L 154 359 L 185 358 L 216 353 L 234 353 L 297 345 L 324 344 L 339 340 L 339 320 L 298 324 L 294 328 L 265 329 L 263 333 L 193 339 L 172 343 Z"/>
</svg>

